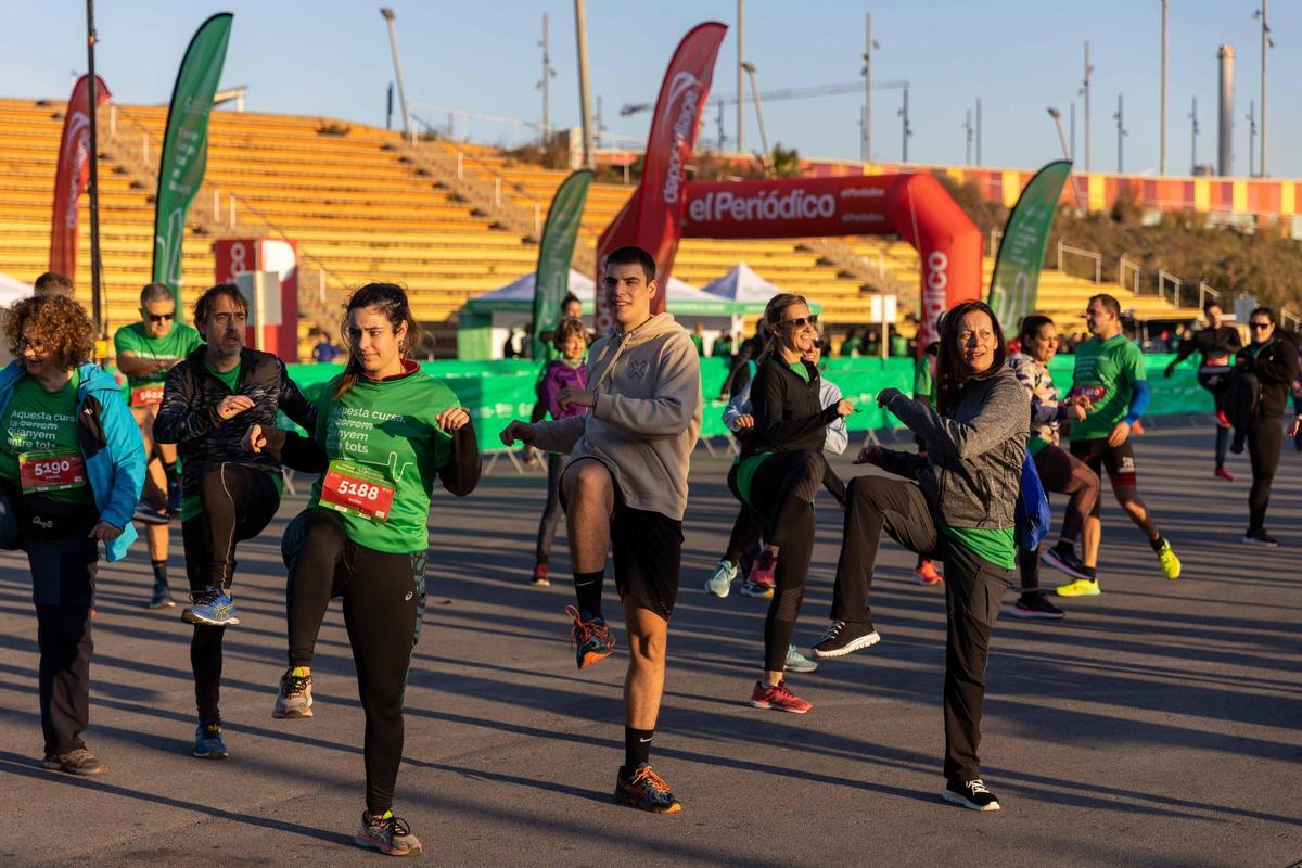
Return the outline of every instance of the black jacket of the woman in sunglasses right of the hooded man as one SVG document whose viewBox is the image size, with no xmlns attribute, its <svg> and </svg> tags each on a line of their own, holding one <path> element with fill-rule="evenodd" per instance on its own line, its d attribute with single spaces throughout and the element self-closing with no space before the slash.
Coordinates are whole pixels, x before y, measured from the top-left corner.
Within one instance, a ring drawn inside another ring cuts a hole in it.
<svg viewBox="0 0 1302 868">
<path fill-rule="evenodd" d="M 810 375 L 809 383 L 779 355 L 768 354 L 759 360 L 750 387 L 755 427 L 742 442 L 742 455 L 823 450 L 827 424 L 836 419 L 836 407 L 823 407 L 818 368 L 809 362 L 801 364 Z"/>
</svg>

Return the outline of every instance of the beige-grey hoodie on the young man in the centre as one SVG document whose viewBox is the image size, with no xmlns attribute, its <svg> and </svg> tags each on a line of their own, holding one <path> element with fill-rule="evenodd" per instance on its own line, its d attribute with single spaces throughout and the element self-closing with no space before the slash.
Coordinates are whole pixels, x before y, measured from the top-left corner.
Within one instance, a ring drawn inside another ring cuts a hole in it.
<svg viewBox="0 0 1302 868">
<path fill-rule="evenodd" d="M 687 331 L 656 314 L 631 332 L 592 345 L 587 389 L 596 406 L 583 416 L 539 422 L 534 445 L 570 462 L 605 465 L 624 502 L 682 521 L 687 467 L 700 435 L 700 359 Z"/>
</svg>

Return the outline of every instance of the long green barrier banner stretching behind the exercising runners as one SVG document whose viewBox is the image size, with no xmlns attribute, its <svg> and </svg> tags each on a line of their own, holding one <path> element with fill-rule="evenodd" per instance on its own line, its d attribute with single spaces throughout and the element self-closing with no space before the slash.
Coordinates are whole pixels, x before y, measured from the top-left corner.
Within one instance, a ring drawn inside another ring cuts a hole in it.
<svg viewBox="0 0 1302 868">
<path fill-rule="evenodd" d="M 1212 397 L 1207 389 L 1198 385 L 1198 366 L 1193 359 L 1176 368 L 1170 379 L 1161 376 L 1163 368 L 1173 354 L 1144 355 L 1144 366 L 1154 371 L 1148 380 L 1152 400 L 1146 416 L 1174 415 L 1181 413 L 1212 413 Z M 1059 394 L 1066 394 L 1072 388 L 1074 355 L 1059 355 L 1049 363 L 1049 373 L 1057 385 Z M 913 359 L 888 358 L 832 358 L 823 360 L 823 376 L 841 389 L 859 413 L 845 422 L 854 432 L 898 428 L 900 420 L 885 413 L 876 403 L 878 392 L 885 388 L 900 389 L 905 394 L 913 390 Z M 344 370 L 340 364 L 290 364 L 289 376 L 311 400 L 320 396 L 326 383 L 339 376 Z M 424 362 L 421 368 L 430 376 L 443 380 L 457 393 L 461 405 L 470 411 L 479 437 L 479 448 L 484 452 L 503 449 L 497 432 L 512 419 L 529 419 L 534 409 L 534 381 L 538 368 L 533 360 L 499 362 Z M 728 376 L 728 359 L 700 359 L 700 385 L 707 396 L 719 394 L 724 377 Z M 721 437 L 728 433 L 723 415 L 725 401 L 707 398 L 702 414 L 700 436 Z M 292 424 L 292 423 L 288 423 Z"/>
</svg>

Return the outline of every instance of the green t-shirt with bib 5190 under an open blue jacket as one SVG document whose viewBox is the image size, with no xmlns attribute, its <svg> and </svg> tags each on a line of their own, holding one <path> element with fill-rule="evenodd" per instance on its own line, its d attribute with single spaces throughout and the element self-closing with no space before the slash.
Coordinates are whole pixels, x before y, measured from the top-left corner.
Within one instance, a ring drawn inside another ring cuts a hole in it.
<svg viewBox="0 0 1302 868">
<path fill-rule="evenodd" d="M 4 428 L 4 436 L 0 437 L 0 479 L 51 500 L 90 504 L 91 491 L 77 436 L 76 375 L 57 392 L 46 392 L 34 376 L 18 380 L 0 427 Z M 22 483 L 20 459 L 23 457 L 29 463 L 29 485 Z M 57 465 L 60 458 L 65 459 L 65 472 L 61 476 L 64 481 L 48 488 L 42 485 L 49 479 L 46 476 L 47 468 L 52 463 Z M 69 459 L 70 468 L 66 467 Z"/>
</svg>

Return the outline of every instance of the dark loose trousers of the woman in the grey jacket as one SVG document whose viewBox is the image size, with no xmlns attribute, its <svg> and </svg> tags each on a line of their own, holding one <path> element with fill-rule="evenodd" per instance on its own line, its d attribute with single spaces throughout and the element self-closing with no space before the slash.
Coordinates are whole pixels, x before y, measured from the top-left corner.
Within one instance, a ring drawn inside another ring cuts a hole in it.
<svg viewBox="0 0 1302 868">
<path fill-rule="evenodd" d="M 914 483 L 857 476 L 846 496 L 845 543 L 832 596 L 835 621 L 871 623 L 868 590 L 883 530 L 917 554 L 945 562 L 944 773 L 950 781 L 971 781 L 980 777 L 976 750 L 990 634 L 1013 571 L 941 534 Z"/>
</svg>

